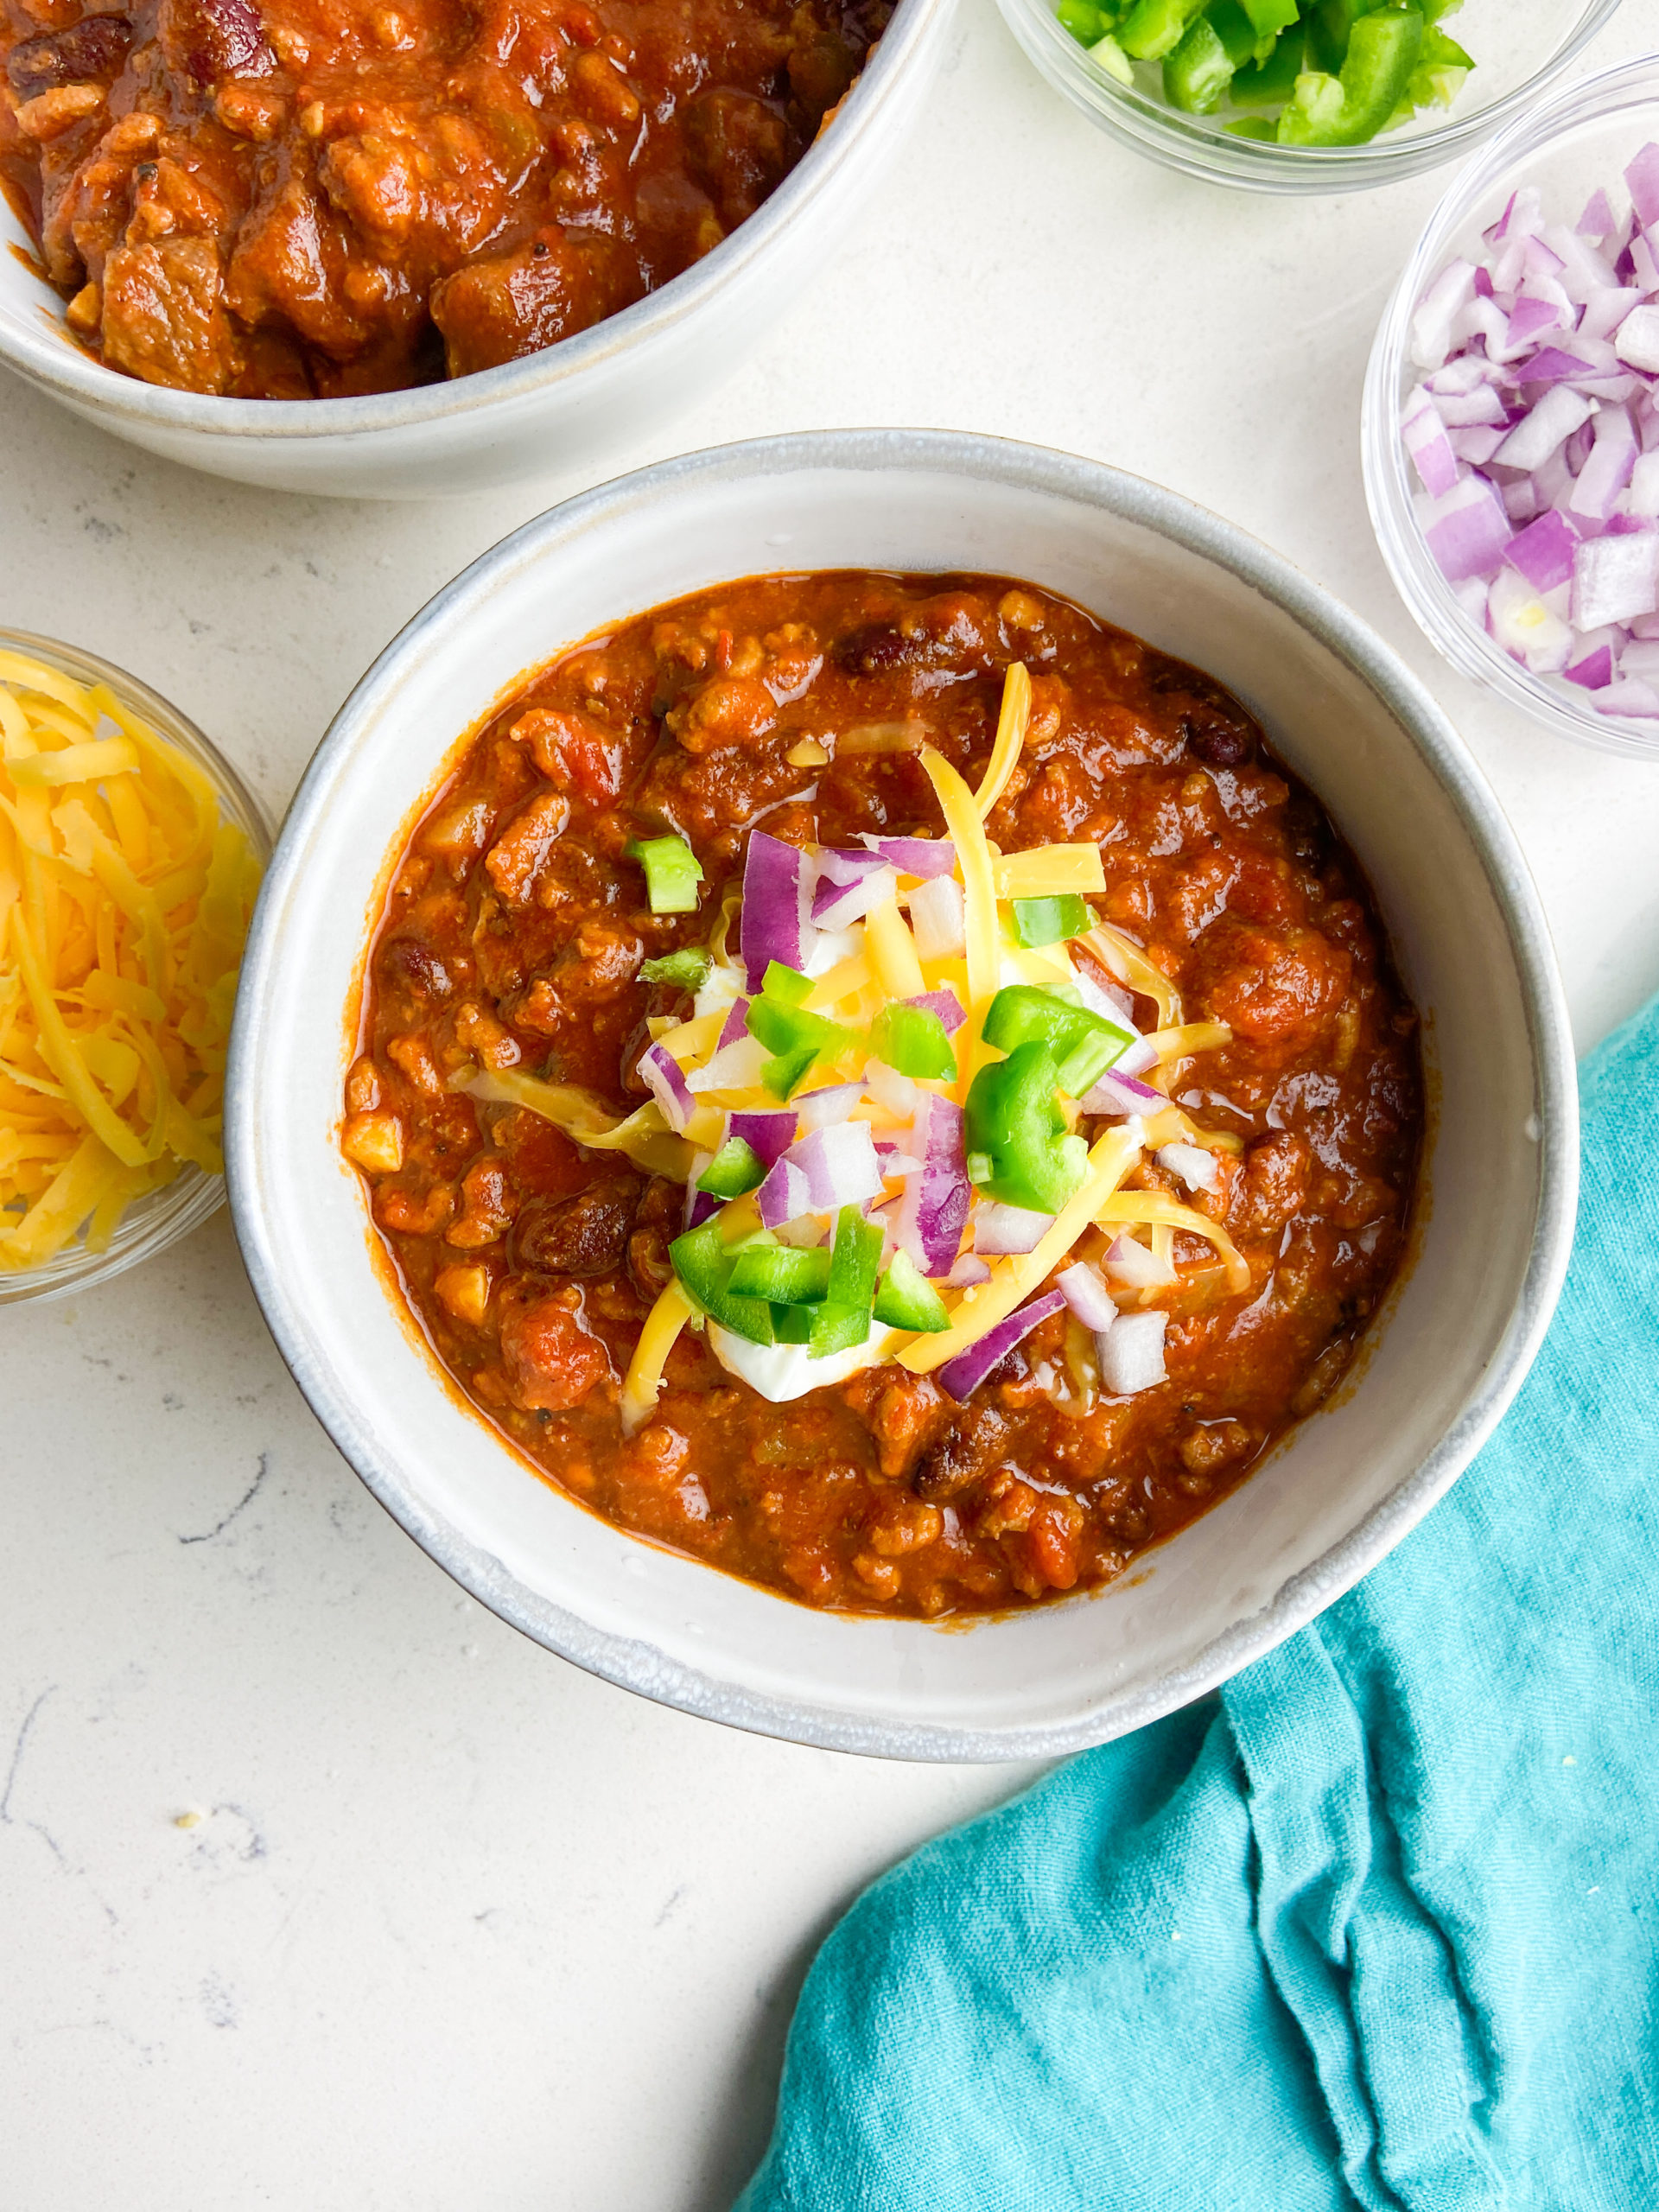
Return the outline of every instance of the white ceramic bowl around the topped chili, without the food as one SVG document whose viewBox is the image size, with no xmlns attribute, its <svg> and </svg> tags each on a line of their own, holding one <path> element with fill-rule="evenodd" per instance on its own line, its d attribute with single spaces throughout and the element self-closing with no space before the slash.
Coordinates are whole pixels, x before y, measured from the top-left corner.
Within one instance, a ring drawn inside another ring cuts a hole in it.
<svg viewBox="0 0 1659 2212">
<path fill-rule="evenodd" d="M 385 869 L 465 732 L 564 644 L 779 568 L 1026 577 L 1217 675 L 1352 843 L 1425 1018 L 1416 1252 L 1358 1371 L 1128 1577 L 967 1632 L 814 1613 L 540 1482 L 387 1296 L 338 1148 Z M 1230 524 L 1097 462 L 830 431 L 695 453 L 571 500 L 392 641 L 312 761 L 265 876 L 226 1150 L 243 1256 L 301 1389 L 376 1498 L 502 1619 L 739 1728 L 896 1759 L 1037 1759 L 1237 1672 L 1455 1480 L 1555 1305 L 1577 1110 L 1562 989 L 1513 836 L 1444 714 L 1354 615 Z"/>
</svg>

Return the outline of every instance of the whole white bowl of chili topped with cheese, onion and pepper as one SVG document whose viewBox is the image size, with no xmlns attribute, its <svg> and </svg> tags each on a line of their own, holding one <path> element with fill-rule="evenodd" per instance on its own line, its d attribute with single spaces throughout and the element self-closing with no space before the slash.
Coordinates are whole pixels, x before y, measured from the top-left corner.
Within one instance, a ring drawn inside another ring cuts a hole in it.
<svg viewBox="0 0 1659 2212">
<path fill-rule="evenodd" d="M 228 1150 L 312 1405 L 504 1617 L 1024 1756 L 1427 1509 L 1571 1137 L 1531 887 L 1352 617 L 1113 471 L 841 434 L 571 502 L 389 648 L 261 900 Z"/>
</svg>

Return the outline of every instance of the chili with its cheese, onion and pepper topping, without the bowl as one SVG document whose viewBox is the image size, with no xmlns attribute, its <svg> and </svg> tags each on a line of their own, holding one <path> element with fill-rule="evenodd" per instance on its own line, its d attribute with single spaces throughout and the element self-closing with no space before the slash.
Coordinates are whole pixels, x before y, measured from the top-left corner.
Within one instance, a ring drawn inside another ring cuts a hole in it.
<svg viewBox="0 0 1659 2212">
<path fill-rule="evenodd" d="M 343 1146 L 467 1396 L 622 1526 L 925 1617 L 1117 1575 L 1347 1367 L 1416 1015 L 1197 670 L 998 577 L 562 655 L 369 956 Z"/>
</svg>

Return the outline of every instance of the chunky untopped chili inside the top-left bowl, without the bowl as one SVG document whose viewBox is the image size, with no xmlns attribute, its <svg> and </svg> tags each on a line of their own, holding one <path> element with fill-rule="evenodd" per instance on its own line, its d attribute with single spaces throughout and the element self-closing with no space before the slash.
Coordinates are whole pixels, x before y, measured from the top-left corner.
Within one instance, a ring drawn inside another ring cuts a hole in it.
<svg viewBox="0 0 1659 2212">
<path fill-rule="evenodd" d="M 239 398 L 535 354 L 750 217 L 891 0 L 4 0 L 0 184 L 113 369 Z"/>
</svg>

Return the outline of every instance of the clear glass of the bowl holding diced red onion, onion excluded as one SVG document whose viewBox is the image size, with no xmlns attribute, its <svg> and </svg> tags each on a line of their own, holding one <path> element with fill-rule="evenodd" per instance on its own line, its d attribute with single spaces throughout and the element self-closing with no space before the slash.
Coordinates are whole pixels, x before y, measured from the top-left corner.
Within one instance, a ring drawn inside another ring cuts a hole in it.
<svg viewBox="0 0 1659 2212">
<path fill-rule="evenodd" d="M 1624 168 L 1648 139 L 1659 139 L 1659 55 L 1652 53 L 1568 84 L 1469 164 L 1418 239 L 1371 345 L 1360 458 L 1365 502 L 1389 575 L 1425 637 L 1451 666 L 1524 708 L 1557 737 L 1652 761 L 1659 759 L 1659 721 L 1599 714 L 1582 703 L 1577 686 L 1564 677 L 1535 677 L 1464 613 L 1422 540 L 1411 507 L 1416 478 L 1400 442 L 1400 403 L 1420 374 L 1407 358 L 1407 334 L 1433 276 L 1447 261 L 1473 252 L 1480 232 L 1520 184 L 1542 190 L 1553 221 L 1575 223 L 1597 186 L 1606 186 L 1617 204 Z"/>
</svg>

